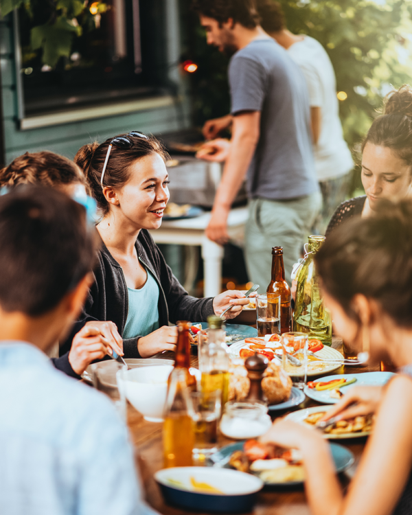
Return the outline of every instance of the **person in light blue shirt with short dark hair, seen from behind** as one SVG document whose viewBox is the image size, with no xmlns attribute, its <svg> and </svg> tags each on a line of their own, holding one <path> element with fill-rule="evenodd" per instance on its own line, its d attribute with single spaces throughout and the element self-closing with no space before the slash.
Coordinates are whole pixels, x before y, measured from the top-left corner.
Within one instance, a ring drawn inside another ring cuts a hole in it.
<svg viewBox="0 0 412 515">
<path fill-rule="evenodd" d="M 94 230 L 84 207 L 51 188 L 0 196 L 1 514 L 156 513 L 111 401 L 45 354 L 87 295 Z"/>
</svg>

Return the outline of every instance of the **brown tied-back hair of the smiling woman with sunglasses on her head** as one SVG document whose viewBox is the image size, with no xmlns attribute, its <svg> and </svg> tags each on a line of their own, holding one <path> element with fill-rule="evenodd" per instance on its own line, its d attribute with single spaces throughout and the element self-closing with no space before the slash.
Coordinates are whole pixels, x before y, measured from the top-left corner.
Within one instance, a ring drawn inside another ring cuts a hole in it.
<svg viewBox="0 0 412 515">
<path fill-rule="evenodd" d="M 148 139 L 145 139 L 142 137 L 130 137 L 126 134 L 116 137 L 126 136 L 133 141 L 133 146 L 130 148 L 117 148 L 113 146 L 104 172 L 104 186 L 124 186 L 130 178 L 130 165 L 133 165 L 137 159 L 153 154 L 159 154 L 164 161 L 169 159 L 165 148 L 155 137 L 148 136 Z M 103 215 L 108 213 L 109 204 L 104 197 L 100 181 L 107 149 L 112 139 L 114 137 L 106 139 L 102 144 L 99 144 L 98 141 L 93 141 L 93 143 L 83 145 L 74 157 L 74 162 L 82 168 L 87 177 L 93 197 Z"/>
</svg>

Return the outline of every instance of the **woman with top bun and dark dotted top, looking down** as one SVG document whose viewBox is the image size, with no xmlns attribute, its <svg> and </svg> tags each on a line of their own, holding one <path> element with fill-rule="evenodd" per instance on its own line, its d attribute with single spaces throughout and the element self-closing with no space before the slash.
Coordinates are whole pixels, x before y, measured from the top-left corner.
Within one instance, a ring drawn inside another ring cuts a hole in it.
<svg viewBox="0 0 412 515">
<path fill-rule="evenodd" d="M 404 85 L 387 95 L 362 145 L 361 179 L 365 195 L 343 202 L 334 212 L 326 236 L 352 216 L 369 216 L 381 201 L 412 198 L 412 89 Z"/>
</svg>

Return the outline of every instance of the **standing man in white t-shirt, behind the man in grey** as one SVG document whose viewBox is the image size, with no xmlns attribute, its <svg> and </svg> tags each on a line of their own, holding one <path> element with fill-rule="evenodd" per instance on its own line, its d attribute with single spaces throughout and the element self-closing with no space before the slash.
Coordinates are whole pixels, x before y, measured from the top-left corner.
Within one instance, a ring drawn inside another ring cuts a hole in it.
<svg viewBox="0 0 412 515">
<path fill-rule="evenodd" d="M 352 155 L 343 139 L 339 119 L 339 100 L 336 97 L 336 78 L 332 62 L 325 49 L 314 38 L 302 34 L 292 34 L 286 29 L 284 14 L 279 3 L 273 0 L 257 0 L 261 25 L 265 32 L 282 45 L 290 58 L 304 72 L 308 84 L 310 117 L 315 168 L 323 197 L 323 208 L 314 224 L 317 232 L 324 234 L 336 207 L 345 201 L 353 168 Z M 218 133 L 231 124 L 231 116 L 211 119 L 203 127 L 207 139 L 214 139 Z M 225 147 L 224 140 L 216 141 L 214 154 L 222 157 L 219 143 Z M 212 146 L 209 142 L 207 146 Z M 207 155 L 202 155 L 207 159 Z"/>
</svg>

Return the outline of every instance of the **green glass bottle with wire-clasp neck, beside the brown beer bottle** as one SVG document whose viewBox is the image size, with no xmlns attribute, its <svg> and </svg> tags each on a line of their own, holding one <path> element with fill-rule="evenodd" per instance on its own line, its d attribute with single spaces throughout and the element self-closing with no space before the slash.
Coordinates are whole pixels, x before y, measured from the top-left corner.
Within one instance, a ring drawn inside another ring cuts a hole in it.
<svg viewBox="0 0 412 515">
<path fill-rule="evenodd" d="M 313 257 L 325 241 L 325 236 L 309 236 L 308 252 L 297 273 L 293 330 L 305 332 L 309 339 L 332 345 L 332 319 L 323 304 Z"/>
</svg>

